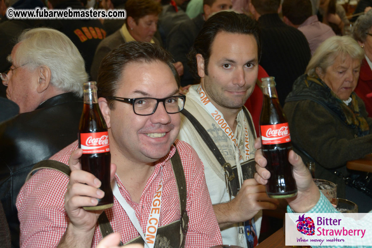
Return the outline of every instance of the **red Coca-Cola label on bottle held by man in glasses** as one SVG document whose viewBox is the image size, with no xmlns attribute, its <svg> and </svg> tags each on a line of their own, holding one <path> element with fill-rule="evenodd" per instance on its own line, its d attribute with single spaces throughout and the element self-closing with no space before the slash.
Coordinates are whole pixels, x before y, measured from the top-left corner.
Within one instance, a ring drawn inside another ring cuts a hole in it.
<svg viewBox="0 0 372 248">
<path fill-rule="evenodd" d="M 109 133 L 80 133 L 80 148 L 83 154 L 109 152 Z"/>
</svg>

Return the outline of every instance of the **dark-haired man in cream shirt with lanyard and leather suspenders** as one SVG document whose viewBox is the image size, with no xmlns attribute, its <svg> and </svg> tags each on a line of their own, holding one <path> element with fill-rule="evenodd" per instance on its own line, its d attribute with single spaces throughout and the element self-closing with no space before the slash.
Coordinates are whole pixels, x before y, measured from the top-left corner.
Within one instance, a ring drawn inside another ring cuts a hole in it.
<svg viewBox="0 0 372 248">
<path fill-rule="evenodd" d="M 223 11 L 205 22 L 188 55 L 201 83 L 189 88 L 179 134 L 204 164 L 222 241 L 240 247 L 257 244 L 260 210 L 278 204 L 253 179 L 256 132 L 243 106 L 256 84 L 260 50 L 257 22 L 247 15 Z M 255 240 L 247 222 L 253 217 Z"/>
</svg>

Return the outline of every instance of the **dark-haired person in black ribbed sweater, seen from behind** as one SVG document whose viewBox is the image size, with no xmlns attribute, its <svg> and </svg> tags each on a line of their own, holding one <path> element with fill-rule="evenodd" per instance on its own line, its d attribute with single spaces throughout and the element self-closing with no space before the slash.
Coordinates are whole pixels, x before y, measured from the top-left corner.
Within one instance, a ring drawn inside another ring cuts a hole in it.
<svg viewBox="0 0 372 248">
<path fill-rule="evenodd" d="M 311 57 L 309 44 L 301 31 L 280 20 L 280 0 L 251 0 L 249 8 L 261 28 L 260 65 L 269 76 L 275 77 L 283 106 L 294 81 L 305 72 Z"/>
</svg>

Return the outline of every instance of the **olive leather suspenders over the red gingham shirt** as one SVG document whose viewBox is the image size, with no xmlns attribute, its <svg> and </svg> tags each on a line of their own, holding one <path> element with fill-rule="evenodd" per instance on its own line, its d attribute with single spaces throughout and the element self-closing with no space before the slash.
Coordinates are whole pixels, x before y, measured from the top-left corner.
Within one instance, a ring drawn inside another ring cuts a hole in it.
<svg viewBox="0 0 372 248">
<path fill-rule="evenodd" d="M 176 178 L 176 184 L 178 188 L 178 193 L 179 193 L 179 200 L 180 200 L 180 225 L 179 226 L 179 234 L 181 236 L 180 238 L 180 243 L 179 247 L 184 247 L 185 246 L 185 238 L 186 238 L 186 233 L 188 229 L 188 223 L 189 223 L 189 216 L 187 216 L 187 211 L 186 211 L 186 195 L 187 195 L 187 189 L 186 189 L 186 178 L 185 178 L 185 172 L 183 171 L 183 166 L 181 162 L 180 155 L 178 153 L 178 150 L 174 153 L 173 157 L 170 159 L 172 168 L 173 168 L 173 173 Z M 42 160 L 39 163 L 36 163 L 32 170 L 29 172 L 27 175 L 26 181 L 28 181 L 29 178 L 32 177 L 32 173 L 34 171 L 37 171 L 38 169 L 54 169 L 56 171 L 60 171 L 63 174 L 67 175 L 70 177 L 71 170 L 70 167 L 65 165 L 62 162 L 58 162 L 55 160 Z M 102 214 L 98 218 L 98 223 L 99 223 L 99 228 L 102 234 L 102 237 L 104 238 L 105 236 L 109 235 L 110 233 L 113 233 L 112 226 L 110 225 L 109 219 L 106 216 L 105 211 L 102 212 Z M 173 225 L 169 224 L 167 226 L 163 226 L 159 228 L 159 232 L 161 229 L 165 228 L 174 228 Z M 167 233 L 167 232 L 165 232 Z M 138 239 L 135 239 L 138 241 Z M 142 238 L 139 240 L 144 242 Z M 156 242 L 156 240 L 155 240 Z M 120 241 L 120 246 L 123 245 L 123 243 Z"/>
</svg>

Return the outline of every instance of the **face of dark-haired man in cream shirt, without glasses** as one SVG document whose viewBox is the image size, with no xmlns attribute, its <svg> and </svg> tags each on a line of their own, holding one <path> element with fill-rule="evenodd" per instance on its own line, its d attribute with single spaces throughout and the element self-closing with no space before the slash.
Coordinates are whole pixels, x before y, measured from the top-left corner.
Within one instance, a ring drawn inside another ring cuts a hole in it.
<svg viewBox="0 0 372 248">
<path fill-rule="evenodd" d="M 220 111 L 241 108 L 257 80 L 258 52 L 254 36 L 218 33 L 211 46 L 208 75 L 201 56 L 197 55 L 198 73 L 209 100 Z"/>
</svg>

